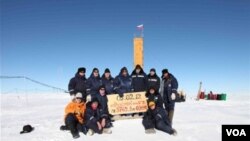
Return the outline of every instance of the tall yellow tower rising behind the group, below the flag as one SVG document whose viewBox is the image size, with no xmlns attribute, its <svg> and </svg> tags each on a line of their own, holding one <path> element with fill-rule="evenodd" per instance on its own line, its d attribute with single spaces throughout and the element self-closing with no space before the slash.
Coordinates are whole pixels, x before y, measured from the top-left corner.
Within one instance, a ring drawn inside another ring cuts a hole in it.
<svg viewBox="0 0 250 141">
<path fill-rule="evenodd" d="M 143 64 L 143 38 L 135 37 L 134 38 L 134 67 L 140 65 L 142 68 Z"/>
</svg>

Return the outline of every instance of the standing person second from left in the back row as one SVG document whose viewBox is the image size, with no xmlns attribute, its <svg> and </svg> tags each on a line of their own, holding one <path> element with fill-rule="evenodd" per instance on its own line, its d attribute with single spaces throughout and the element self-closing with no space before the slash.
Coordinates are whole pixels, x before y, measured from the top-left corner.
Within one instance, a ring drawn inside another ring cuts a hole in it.
<svg viewBox="0 0 250 141">
<path fill-rule="evenodd" d="M 90 95 L 95 95 L 98 93 L 99 87 L 102 85 L 102 79 L 99 75 L 99 70 L 94 68 L 90 77 L 87 80 L 88 89 L 87 93 Z"/>
</svg>

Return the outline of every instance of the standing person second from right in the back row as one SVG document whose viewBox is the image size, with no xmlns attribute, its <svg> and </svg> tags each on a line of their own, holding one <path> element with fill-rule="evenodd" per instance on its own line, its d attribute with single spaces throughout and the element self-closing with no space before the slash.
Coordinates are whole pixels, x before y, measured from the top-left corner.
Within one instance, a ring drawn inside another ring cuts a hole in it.
<svg viewBox="0 0 250 141">
<path fill-rule="evenodd" d="M 160 89 L 160 82 L 161 79 L 160 77 L 157 75 L 156 70 L 154 68 L 150 69 L 150 72 L 148 74 L 148 89 L 150 87 L 154 87 L 156 89 L 156 91 L 158 92 Z"/>
</svg>

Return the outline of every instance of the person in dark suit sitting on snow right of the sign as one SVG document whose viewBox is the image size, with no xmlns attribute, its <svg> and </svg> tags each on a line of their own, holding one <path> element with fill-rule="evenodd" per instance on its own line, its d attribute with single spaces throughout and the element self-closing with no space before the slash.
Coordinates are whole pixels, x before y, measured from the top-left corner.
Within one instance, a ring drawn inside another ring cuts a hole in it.
<svg viewBox="0 0 250 141">
<path fill-rule="evenodd" d="M 167 112 L 162 107 L 156 107 L 154 101 L 149 101 L 148 107 L 142 120 L 146 134 L 154 134 L 156 128 L 170 135 L 177 135 L 167 118 Z"/>
</svg>

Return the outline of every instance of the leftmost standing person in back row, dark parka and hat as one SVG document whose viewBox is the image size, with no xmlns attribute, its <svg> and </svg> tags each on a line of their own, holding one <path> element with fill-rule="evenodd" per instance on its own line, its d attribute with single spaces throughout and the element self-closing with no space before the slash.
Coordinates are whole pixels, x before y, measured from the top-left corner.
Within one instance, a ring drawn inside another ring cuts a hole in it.
<svg viewBox="0 0 250 141">
<path fill-rule="evenodd" d="M 85 77 L 86 69 L 84 67 L 78 68 L 75 77 L 71 78 L 68 84 L 68 91 L 70 95 L 74 96 L 77 92 L 83 95 L 83 101 L 86 101 L 87 93 L 87 79 Z"/>
</svg>

